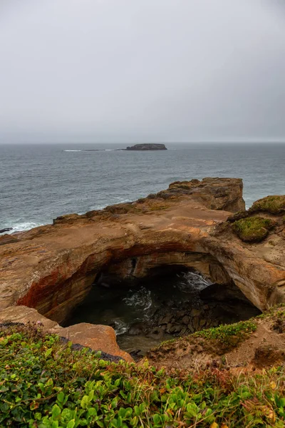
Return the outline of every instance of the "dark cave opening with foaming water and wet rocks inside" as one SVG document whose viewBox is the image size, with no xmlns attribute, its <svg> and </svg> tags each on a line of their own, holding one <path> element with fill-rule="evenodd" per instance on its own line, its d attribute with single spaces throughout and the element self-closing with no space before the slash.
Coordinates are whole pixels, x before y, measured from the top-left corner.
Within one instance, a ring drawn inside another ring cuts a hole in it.
<svg viewBox="0 0 285 428">
<path fill-rule="evenodd" d="M 136 260 L 130 263 L 135 269 Z M 260 313 L 234 283 L 219 285 L 196 270 L 163 265 L 143 278 L 122 279 L 108 270 L 100 272 L 64 325 L 110 325 L 120 348 L 139 360 L 165 340 Z"/>
</svg>

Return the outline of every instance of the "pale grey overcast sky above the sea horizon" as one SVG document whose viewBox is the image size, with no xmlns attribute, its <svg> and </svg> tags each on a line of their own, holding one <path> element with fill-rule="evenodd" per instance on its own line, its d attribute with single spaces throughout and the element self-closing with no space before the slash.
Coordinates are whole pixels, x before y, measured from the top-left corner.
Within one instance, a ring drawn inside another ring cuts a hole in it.
<svg viewBox="0 0 285 428">
<path fill-rule="evenodd" d="M 0 141 L 285 140 L 285 0 L 0 0 Z"/>
</svg>

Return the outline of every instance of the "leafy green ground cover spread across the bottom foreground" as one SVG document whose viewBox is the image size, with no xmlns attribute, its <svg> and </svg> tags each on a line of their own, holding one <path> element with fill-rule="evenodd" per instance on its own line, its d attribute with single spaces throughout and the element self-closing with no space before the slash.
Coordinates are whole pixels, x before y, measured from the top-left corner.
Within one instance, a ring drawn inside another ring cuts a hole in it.
<svg viewBox="0 0 285 428">
<path fill-rule="evenodd" d="M 283 367 L 167 372 L 73 351 L 40 326 L 0 327 L 1 427 L 279 428 L 284 385 Z"/>
</svg>

